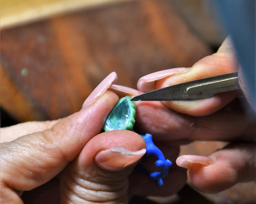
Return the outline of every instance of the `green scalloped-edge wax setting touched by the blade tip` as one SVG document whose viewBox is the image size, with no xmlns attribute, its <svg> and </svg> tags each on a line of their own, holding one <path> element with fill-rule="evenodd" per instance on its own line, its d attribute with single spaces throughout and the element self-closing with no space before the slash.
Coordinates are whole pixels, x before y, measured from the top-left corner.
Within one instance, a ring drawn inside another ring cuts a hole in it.
<svg viewBox="0 0 256 204">
<path fill-rule="evenodd" d="M 131 97 L 123 97 L 109 113 L 103 130 L 105 132 L 109 130 L 132 130 L 135 123 L 135 109 L 136 106 L 131 101 Z"/>
</svg>

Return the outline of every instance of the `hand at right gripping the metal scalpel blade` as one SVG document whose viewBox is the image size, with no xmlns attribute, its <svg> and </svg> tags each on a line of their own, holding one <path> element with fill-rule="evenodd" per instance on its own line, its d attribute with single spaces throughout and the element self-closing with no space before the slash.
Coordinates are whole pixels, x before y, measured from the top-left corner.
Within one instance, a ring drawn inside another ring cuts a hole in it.
<svg viewBox="0 0 256 204">
<path fill-rule="evenodd" d="M 153 73 L 142 77 L 137 86 L 140 91 L 152 91 L 238 69 L 235 51 L 227 39 L 217 53 L 192 68 Z M 151 133 L 156 143 L 169 144 L 167 151 L 175 144 L 193 140 L 230 141 L 209 157 L 188 155 L 176 161 L 189 170 L 189 181 L 198 190 L 220 192 L 237 182 L 256 179 L 256 122 L 244 114 L 238 100 L 234 100 L 236 96 L 237 91 L 230 91 L 196 101 L 137 102 L 136 131 Z"/>
</svg>

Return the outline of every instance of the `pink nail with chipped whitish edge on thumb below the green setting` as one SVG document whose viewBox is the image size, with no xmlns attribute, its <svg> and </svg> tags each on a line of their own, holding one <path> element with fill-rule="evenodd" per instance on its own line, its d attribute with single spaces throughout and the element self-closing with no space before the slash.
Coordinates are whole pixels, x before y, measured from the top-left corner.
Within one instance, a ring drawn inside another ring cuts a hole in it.
<svg viewBox="0 0 256 204">
<path fill-rule="evenodd" d="M 136 163 L 145 153 L 146 149 L 133 152 L 122 147 L 115 147 L 99 152 L 95 156 L 95 162 L 106 170 L 118 171 Z"/>
</svg>

